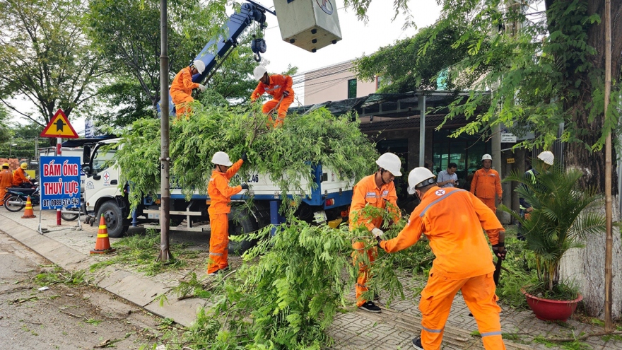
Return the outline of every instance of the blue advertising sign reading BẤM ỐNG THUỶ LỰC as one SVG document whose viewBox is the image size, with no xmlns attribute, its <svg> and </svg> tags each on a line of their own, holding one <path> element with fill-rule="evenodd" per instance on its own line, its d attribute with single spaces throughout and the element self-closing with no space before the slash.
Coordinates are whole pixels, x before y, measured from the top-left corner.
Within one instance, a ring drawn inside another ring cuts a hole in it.
<svg viewBox="0 0 622 350">
<path fill-rule="evenodd" d="M 80 157 L 42 156 L 41 209 L 80 207 Z"/>
</svg>

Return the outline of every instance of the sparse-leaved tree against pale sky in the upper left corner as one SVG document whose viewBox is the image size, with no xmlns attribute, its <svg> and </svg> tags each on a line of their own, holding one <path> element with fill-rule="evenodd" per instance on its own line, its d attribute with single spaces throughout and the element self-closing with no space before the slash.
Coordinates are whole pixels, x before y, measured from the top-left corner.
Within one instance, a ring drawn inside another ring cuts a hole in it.
<svg viewBox="0 0 622 350">
<path fill-rule="evenodd" d="M 59 108 L 69 116 L 92 100 L 107 66 L 83 35 L 87 9 L 80 0 L 0 0 L 0 100 L 8 109 L 45 125 Z"/>
</svg>

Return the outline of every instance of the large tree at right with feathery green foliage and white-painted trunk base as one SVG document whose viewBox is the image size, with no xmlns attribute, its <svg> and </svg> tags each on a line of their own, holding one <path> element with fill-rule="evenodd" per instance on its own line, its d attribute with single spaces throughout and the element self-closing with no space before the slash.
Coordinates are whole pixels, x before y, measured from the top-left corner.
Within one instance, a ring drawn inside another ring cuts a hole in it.
<svg viewBox="0 0 622 350">
<path fill-rule="evenodd" d="M 365 4 L 368 1 L 351 2 Z M 469 98 L 459 98 L 450 106 L 449 118 L 464 114 L 469 119 L 469 124 L 459 129 L 459 133 L 482 132 L 503 122 L 517 132 L 525 129 L 536 132 L 536 139 L 527 141 L 527 146 L 547 147 L 558 138 L 558 126 L 563 123 L 564 165 L 582 170 L 585 174 L 582 186 L 594 186 L 604 192 L 602 146 L 607 134 L 617 132 L 621 107 L 622 0 L 611 0 L 614 86 L 606 117 L 604 1 L 546 0 L 544 11 L 534 11 L 537 3 L 442 1 L 442 13 L 435 25 L 411 39 L 359 59 L 357 69 L 362 77 L 386 74 L 389 79 L 385 81 L 391 82 L 385 86 L 386 90 L 404 88 L 399 86 L 403 79 L 394 78 L 392 74 L 395 71 L 401 76 L 402 72 L 407 72 L 413 76 L 409 81 L 414 83 L 407 89 L 411 91 L 435 86 L 439 72 L 437 61 L 440 60 L 447 64 L 444 68 L 448 70 L 453 88 L 493 90 L 491 96 L 472 93 Z M 447 36 L 453 29 L 460 32 Z M 439 45 L 439 40 L 446 45 Z M 383 57 L 385 54 L 395 56 L 398 50 L 413 57 L 411 70 L 398 67 L 397 60 Z M 475 113 L 476 107 L 482 105 L 488 106 L 485 112 Z M 615 237 L 615 249 L 619 252 L 619 236 Z M 592 254 L 589 259 L 587 252 Z M 594 255 L 594 252 L 599 254 Z M 603 237 L 590 238 L 587 250 L 581 255 L 585 265 L 568 267 L 564 273 L 580 279 L 578 282 L 587 294 L 587 311 L 602 315 L 604 267 L 602 259 L 597 257 L 604 256 Z M 621 267 L 622 262 L 617 259 L 614 268 L 619 272 Z M 576 274 L 579 270 L 585 270 L 585 274 Z M 622 281 L 616 283 L 614 313 L 619 317 Z"/>
</svg>

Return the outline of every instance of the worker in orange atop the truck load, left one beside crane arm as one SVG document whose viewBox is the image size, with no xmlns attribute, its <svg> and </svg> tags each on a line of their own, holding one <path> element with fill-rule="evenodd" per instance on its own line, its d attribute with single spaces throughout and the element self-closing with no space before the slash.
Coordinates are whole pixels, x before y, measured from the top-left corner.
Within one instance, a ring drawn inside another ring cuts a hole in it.
<svg viewBox="0 0 622 350">
<path fill-rule="evenodd" d="M 192 82 L 192 76 L 194 74 L 203 74 L 204 70 L 205 64 L 200 59 L 197 59 L 190 66 L 177 73 L 175 79 L 170 84 L 170 98 L 172 98 L 172 103 L 175 103 L 177 120 L 182 115 L 185 115 L 186 119 L 189 119 L 189 116 L 192 115 L 192 109 L 188 107 L 188 104 L 194 101 L 192 90 L 198 88 L 200 91 L 205 91 L 204 85 Z"/>
</svg>

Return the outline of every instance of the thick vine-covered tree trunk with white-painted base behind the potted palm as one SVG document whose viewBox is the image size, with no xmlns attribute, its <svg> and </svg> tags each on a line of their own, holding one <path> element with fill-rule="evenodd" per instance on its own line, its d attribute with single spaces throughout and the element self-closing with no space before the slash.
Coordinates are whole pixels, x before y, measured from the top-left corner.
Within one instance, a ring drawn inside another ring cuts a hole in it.
<svg viewBox="0 0 622 350">
<path fill-rule="evenodd" d="M 558 0 L 563 1 L 563 0 Z M 547 8 L 551 8 L 551 4 L 558 3 L 556 0 L 546 0 Z M 568 1 L 570 4 L 572 1 Z M 559 4 L 559 3 L 558 3 Z M 585 0 L 587 4 L 587 15 L 598 13 L 603 19 L 604 1 Z M 621 59 L 622 59 L 622 0 L 611 0 L 611 44 L 612 44 L 612 66 L 613 80 L 619 81 L 621 76 Z M 560 29 L 556 28 L 558 21 L 555 18 L 548 18 L 550 25 L 549 32 Z M 591 71 L 583 71 L 577 69 L 580 62 L 558 62 L 561 67 L 561 74 L 566 76 L 567 91 L 562 91 L 564 96 L 564 111 L 572 117 L 573 122 L 567 123 L 567 127 L 573 128 L 580 133 L 578 139 L 581 141 L 573 141 L 565 145 L 566 152 L 564 165 L 566 168 L 575 168 L 582 170 L 585 174 L 580 184 L 582 187 L 596 187 L 600 193 L 604 193 L 605 187 L 605 154 L 604 151 L 592 151 L 591 146 L 597 144 L 602 136 L 604 126 L 604 115 L 594 117 L 589 120 L 589 110 L 592 103 L 602 104 L 603 101 L 592 100 L 592 93 L 597 89 L 604 90 L 604 25 L 594 23 L 586 26 L 587 44 L 596 49 L 596 53 L 587 57 L 593 68 Z M 569 56 L 573 57 L 573 56 Z M 575 86 L 575 82 L 580 82 L 579 86 Z M 618 93 L 619 88 L 614 88 L 612 94 Z M 614 107 L 614 106 L 611 106 Z M 612 135 L 615 137 L 615 135 Z M 612 155 L 616 159 L 616 154 Z M 614 172 L 612 175 L 612 187 L 614 196 L 617 192 L 617 176 Z M 614 202 L 615 203 L 615 202 Z M 604 205 L 602 207 L 604 215 Z M 620 218 L 618 209 L 614 206 L 614 221 Z M 580 288 L 584 296 L 584 303 L 587 314 L 592 317 L 604 317 L 604 260 L 605 260 L 605 240 L 606 234 L 591 235 L 587 238 L 586 247 L 573 249 L 568 251 L 561 264 L 561 280 L 565 283 L 572 284 L 575 282 Z M 614 284 L 613 284 L 613 309 L 614 318 L 620 318 L 622 315 L 622 245 L 620 232 L 614 227 Z"/>
</svg>

